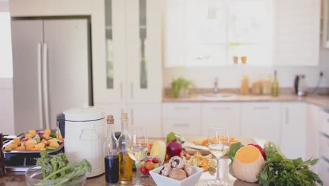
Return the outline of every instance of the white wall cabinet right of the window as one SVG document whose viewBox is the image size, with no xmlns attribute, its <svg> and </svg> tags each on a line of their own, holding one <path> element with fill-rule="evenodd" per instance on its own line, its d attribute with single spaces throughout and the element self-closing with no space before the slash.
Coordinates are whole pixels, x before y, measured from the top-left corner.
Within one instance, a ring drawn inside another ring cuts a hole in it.
<svg viewBox="0 0 329 186">
<path fill-rule="evenodd" d="M 276 66 L 318 66 L 321 0 L 276 1 Z"/>
</svg>

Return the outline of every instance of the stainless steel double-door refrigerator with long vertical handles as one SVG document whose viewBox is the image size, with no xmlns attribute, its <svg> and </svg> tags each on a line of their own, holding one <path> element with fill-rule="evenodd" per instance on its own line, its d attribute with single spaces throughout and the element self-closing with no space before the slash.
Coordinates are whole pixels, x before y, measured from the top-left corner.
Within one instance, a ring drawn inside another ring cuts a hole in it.
<svg viewBox="0 0 329 186">
<path fill-rule="evenodd" d="M 15 133 L 56 128 L 65 109 L 93 104 L 89 19 L 15 19 Z"/>
</svg>

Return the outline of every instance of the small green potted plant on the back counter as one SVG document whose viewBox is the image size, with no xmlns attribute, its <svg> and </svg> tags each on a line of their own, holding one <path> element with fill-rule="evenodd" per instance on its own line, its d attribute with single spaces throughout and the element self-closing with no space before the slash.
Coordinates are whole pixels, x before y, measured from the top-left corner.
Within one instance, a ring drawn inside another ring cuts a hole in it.
<svg viewBox="0 0 329 186">
<path fill-rule="evenodd" d="M 193 83 L 191 80 L 186 80 L 183 77 L 172 80 L 172 85 L 170 88 L 170 97 L 187 97 L 191 93 L 191 88 Z"/>
</svg>

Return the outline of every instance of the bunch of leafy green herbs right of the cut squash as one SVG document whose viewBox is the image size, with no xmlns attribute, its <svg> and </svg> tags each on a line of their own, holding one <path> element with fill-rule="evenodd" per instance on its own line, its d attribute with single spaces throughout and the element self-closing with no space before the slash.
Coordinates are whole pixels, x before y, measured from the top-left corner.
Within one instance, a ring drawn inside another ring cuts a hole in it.
<svg viewBox="0 0 329 186">
<path fill-rule="evenodd" d="M 286 185 L 313 185 L 323 182 L 316 173 L 309 170 L 318 159 L 302 161 L 299 159 L 285 159 L 280 149 L 273 142 L 267 142 L 264 147 L 267 161 L 264 168 L 257 176 L 259 184 L 264 186 L 286 186 Z"/>
</svg>

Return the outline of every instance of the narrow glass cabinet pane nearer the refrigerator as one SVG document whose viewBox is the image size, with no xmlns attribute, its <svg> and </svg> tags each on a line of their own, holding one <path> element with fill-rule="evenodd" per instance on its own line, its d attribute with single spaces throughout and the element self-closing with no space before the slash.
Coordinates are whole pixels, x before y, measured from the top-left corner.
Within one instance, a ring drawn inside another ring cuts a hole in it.
<svg viewBox="0 0 329 186">
<path fill-rule="evenodd" d="M 113 89 L 112 0 L 105 0 L 106 87 Z"/>
</svg>

